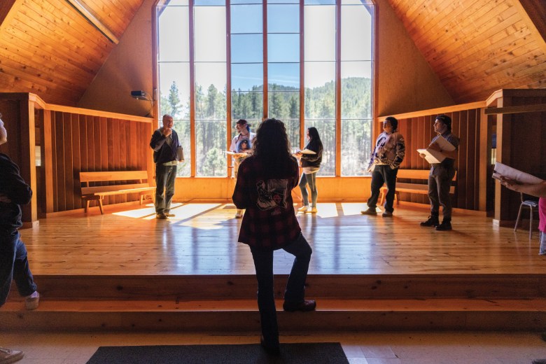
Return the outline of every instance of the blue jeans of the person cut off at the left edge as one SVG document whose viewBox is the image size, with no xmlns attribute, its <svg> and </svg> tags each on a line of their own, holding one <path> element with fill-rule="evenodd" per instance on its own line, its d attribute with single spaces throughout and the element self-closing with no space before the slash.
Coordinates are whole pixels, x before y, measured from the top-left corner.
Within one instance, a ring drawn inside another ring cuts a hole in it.
<svg viewBox="0 0 546 364">
<path fill-rule="evenodd" d="M 13 279 L 22 296 L 31 295 L 36 290 L 27 259 L 27 247 L 20 237 L 18 230 L 0 232 L 0 306 L 8 299 Z"/>
</svg>

